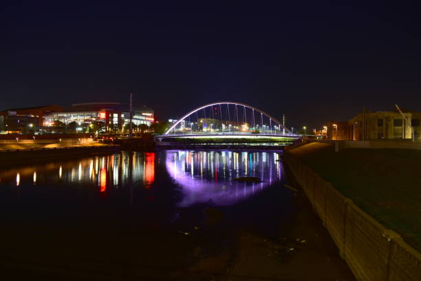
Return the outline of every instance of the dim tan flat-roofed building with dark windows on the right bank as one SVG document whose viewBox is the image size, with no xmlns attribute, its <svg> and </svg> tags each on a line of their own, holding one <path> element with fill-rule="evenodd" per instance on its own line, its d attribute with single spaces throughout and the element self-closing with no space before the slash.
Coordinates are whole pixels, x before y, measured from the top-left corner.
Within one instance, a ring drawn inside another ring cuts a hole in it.
<svg viewBox="0 0 421 281">
<path fill-rule="evenodd" d="M 404 116 L 402 116 L 402 114 Z M 349 140 L 415 138 L 420 141 L 421 112 L 362 112 L 348 121 Z"/>
</svg>

